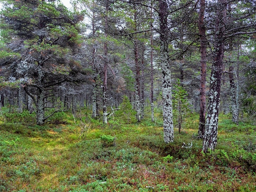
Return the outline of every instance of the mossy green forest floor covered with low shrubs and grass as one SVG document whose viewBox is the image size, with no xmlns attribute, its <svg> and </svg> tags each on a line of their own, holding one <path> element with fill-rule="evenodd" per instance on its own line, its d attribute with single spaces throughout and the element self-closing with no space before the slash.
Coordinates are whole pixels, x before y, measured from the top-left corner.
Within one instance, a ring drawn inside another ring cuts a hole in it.
<svg viewBox="0 0 256 192">
<path fill-rule="evenodd" d="M 221 115 L 217 148 L 203 153 L 197 114 L 171 144 L 157 118 L 89 125 L 62 113 L 37 126 L 28 113 L 1 114 L 0 191 L 256 191 L 256 126 Z"/>
</svg>

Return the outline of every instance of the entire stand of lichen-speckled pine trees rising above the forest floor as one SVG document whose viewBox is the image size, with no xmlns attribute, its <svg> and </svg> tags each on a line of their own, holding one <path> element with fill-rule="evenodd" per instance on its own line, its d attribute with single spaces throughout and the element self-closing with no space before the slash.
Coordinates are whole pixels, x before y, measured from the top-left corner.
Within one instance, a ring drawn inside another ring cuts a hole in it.
<svg viewBox="0 0 256 192">
<path fill-rule="evenodd" d="M 173 121 L 180 130 L 187 113 L 199 113 L 207 151 L 216 147 L 219 111 L 237 124 L 255 117 L 253 0 L 2 5 L 1 106 L 35 112 L 37 125 L 84 105 L 108 123 L 127 96 L 137 122 L 145 107 L 152 121 L 162 109 L 166 143 Z"/>
</svg>

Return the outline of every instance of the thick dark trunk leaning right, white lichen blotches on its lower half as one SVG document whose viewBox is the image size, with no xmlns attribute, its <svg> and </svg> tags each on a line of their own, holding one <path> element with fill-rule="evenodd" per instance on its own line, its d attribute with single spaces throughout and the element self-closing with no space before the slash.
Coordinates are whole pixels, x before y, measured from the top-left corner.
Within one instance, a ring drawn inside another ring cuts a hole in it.
<svg viewBox="0 0 256 192">
<path fill-rule="evenodd" d="M 224 35 L 225 18 L 227 11 L 227 0 L 218 0 L 219 8 L 216 14 L 216 32 L 214 36 L 213 65 L 211 68 L 211 79 L 209 88 L 209 100 L 207 109 L 206 125 L 204 130 L 204 139 L 202 150 L 214 150 L 217 145 L 218 135 L 218 116 L 220 105 L 220 85 L 223 71 L 224 57 Z"/>
</svg>

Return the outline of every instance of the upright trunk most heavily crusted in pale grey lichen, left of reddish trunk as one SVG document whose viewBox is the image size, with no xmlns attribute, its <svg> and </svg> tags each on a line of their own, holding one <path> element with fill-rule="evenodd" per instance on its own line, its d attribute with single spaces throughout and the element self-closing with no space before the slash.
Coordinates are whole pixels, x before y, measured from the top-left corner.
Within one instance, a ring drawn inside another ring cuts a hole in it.
<svg viewBox="0 0 256 192">
<path fill-rule="evenodd" d="M 174 141 L 173 129 L 173 105 L 171 92 L 171 70 L 168 60 L 168 25 L 167 25 L 167 2 L 159 0 L 159 25 L 160 25 L 160 62 L 162 67 L 162 98 L 163 98 L 163 119 L 164 119 L 164 142 Z"/>
</svg>

